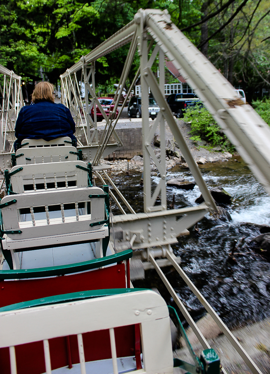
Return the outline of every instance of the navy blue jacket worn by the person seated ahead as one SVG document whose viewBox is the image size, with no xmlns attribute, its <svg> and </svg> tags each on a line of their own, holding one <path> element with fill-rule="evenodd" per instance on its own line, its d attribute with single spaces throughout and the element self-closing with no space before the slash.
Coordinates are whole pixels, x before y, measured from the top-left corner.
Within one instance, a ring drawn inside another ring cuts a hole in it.
<svg viewBox="0 0 270 374">
<path fill-rule="evenodd" d="M 24 139 L 44 139 L 46 141 L 61 136 L 70 136 L 76 139 L 75 122 L 70 110 L 63 104 L 42 101 L 34 105 L 22 107 L 19 112 L 15 136 L 17 144 Z M 18 148 L 18 146 L 15 148 Z"/>
</svg>

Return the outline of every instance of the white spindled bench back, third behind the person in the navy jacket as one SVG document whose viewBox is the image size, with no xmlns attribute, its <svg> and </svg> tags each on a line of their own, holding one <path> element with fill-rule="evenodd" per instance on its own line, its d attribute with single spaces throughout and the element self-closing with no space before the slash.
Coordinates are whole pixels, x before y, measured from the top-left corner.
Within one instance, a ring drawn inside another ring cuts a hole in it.
<svg viewBox="0 0 270 374">
<path fill-rule="evenodd" d="M 5 171 L 5 179 L 7 185 L 10 180 L 14 193 L 89 186 L 87 165 L 81 160 L 16 165 L 8 173 Z"/>
</svg>

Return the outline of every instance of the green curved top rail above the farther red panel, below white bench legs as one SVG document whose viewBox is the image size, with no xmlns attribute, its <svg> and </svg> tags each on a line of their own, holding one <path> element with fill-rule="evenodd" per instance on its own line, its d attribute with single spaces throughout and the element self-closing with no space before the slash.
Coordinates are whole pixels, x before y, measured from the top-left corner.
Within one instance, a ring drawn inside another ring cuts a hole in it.
<svg viewBox="0 0 270 374">
<path fill-rule="evenodd" d="M 130 259 L 133 255 L 132 249 L 116 253 L 114 255 L 102 257 L 100 259 L 80 262 L 78 264 L 61 265 L 55 267 L 39 267 L 35 269 L 16 269 L 16 270 L 0 270 L 0 280 L 4 279 L 25 279 L 25 278 L 41 278 L 52 277 L 55 275 L 64 275 L 78 273 L 103 267 L 124 260 Z"/>
</svg>

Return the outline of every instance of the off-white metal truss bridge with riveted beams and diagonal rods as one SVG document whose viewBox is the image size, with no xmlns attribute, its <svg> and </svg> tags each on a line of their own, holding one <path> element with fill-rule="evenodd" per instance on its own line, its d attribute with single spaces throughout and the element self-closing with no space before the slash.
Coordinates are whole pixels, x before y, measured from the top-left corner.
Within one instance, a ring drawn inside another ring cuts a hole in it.
<svg viewBox="0 0 270 374">
<path fill-rule="evenodd" d="M 95 90 L 95 61 L 112 51 L 129 44 L 124 69 L 119 80 L 114 97 L 114 109 L 107 117 L 101 107 Z M 119 110 L 122 88 L 130 73 L 135 53 L 138 51 L 140 67 L 127 92 L 126 99 Z M 114 230 L 121 233 L 115 237 L 115 249 L 131 247 L 137 250 L 138 258 L 156 268 L 168 291 L 181 309 L 189 325 L 193 328 L 198 340 L 206 349 L 209 346 L 196 324 L 191 319 L 187 309 L 174 292 L 164 276 L 161 266 L 173 265 L 194 294 L 212 315 L 231 344 L 238 350 L 244 362 L 252 373 L 261 371 L 244 352 L 239 342 L 216 315 L 215 311 L 199 293 L 189 278 L 178 265 L 179 261 L 172 254 L 170 245 L 177 238 L 187 233 L 189 227 L 199 221 L 205 214 L 216 211 L 216 205 L 209 192 L 197 163 L 193 159 L 176 119 L 165 100 L 164 59 L 173 62 L 189 86 L 201 99 L 204 106 L 214 116 L 220 128 L 235 145 L 243 160 L 247 163 L 257 179 L 270 192 L 270 128 L 249 105 L 244 105 L 238 98 L 234 87 L 222 76 L 211 62 L 200 53 L 189 39 L 171 22 L 166 11 L 146 9 L 139 10 L 128 25 L 108 38 L 99 47 L 82 56 L 80 61 L 70 67 L 60 76 L 62 85 L 61 100 L 70 108 L 77 126 L 77 134 L 82 133 L 87 145 L 79 141 L 78 148 L 82 150 L 84 160 L 92 163 L 93 171 L 103 184 L 111 186 L 116 194 L 110 191 L 110 197 L 122 212 L 111 217 Z M 157 79 L 153 73 L 153 64 L 158 59 L 160 76 Z M 7 133 L 9 139 L 14 138 L 14 124 L 23 104 L 21 78 L 13 72 L 0 66 L 3 75 L 3 85 L 0 95 L 0 167 L 10 166 L 10 152 L 5 153 Z M 134 89 L 136 80 L 141 81 L 142 103 L 142 148 L 143 148 L 143 195 L 144 211 L 136 213 L 127 202 L 121 191 L 115 186 L 106 170 L 100 165 L 100 160 L 122 145 L 121 139 L 115 132 L 115 126 L 121 115 L 126 101 Z M 85 97 L 81 97 L 82 86 Z M 155 122 L 149 122 L 148 103 L 149 88 L 161 108 Z M 88 100 L 88 94 L 92 97 Z M 98 135 L 96 106 L 106 119 L 105 130 Z M 94 111 L 94 119 L 90 113 Z M 83 120 L 84 119 L 84 120 Z M 166 200 L 166 166 L 165 166 L 165 123 L 169 126 L 175 141 L 179 145 L 189 169 L 200 188 L 204 203 L 198 206 L 167 210 Z M 159 128 L 161 138 L 161 157 L 158 160 L 151 146 L 156 130 Z M 116 141 L 111 142 L 111 138 Z M 12 151 L 12 149 L 11 149 Z M 160 182 L 155 188 L 150 177 L 150 160 L 156 165 Z M 114 244 L 110 244 L 114 247 Z M 225 370 L 222 369 L 224 373 Z"/>
</svg>

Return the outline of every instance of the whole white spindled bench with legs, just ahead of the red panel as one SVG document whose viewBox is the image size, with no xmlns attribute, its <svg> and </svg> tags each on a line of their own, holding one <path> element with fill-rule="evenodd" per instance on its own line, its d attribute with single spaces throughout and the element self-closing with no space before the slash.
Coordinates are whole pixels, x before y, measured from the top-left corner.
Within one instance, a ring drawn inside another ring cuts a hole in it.
<svg viewBox="0 0 270 374">
<path fill-rule="evenodd" d="M 89 197 L 90 196 L 90 197 Z M 1 200 L 2 249 L 15 252 L 108 237 L 105 196 L 99 187 L 36 191 L 7 195 Z"/>
</svg>

